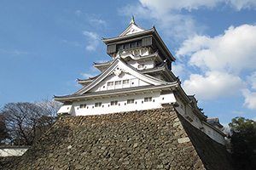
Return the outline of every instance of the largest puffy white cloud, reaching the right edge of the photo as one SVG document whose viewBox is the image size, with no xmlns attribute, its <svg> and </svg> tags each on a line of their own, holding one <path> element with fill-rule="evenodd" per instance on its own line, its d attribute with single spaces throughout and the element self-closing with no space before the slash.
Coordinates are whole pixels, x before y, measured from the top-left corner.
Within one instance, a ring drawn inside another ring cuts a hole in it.
<svg viewBox="0 0 256 170">
<path fill-rule="evenodd" d="M 256 69 L 256 26 L 230 26 L 218 37 L 195 36 L 183 42 L 177 56 L 191 55 L 190 65 L 238 74 Z"/>
</svg>

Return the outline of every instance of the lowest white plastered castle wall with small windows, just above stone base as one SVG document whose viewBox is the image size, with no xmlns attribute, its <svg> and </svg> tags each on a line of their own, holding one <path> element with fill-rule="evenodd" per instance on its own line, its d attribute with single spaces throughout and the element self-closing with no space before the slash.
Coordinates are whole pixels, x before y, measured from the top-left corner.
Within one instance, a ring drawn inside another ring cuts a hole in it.
<svg viewBox="0 0 256 170">
<path fill-rule="evenodd" d="M 145 98 L 152 98 L 146 102 Z M 128 99 L 134 99 L 133 103 L 128 104 Z M 117 101 L 115 105 L 111 105 L 112 101 Z M 96 106 L 96 103 L 101 103 L 100 106 Z M 189 105 L 184 105 L 183 102 L 175 98 L 174 94 L 160 94 L 160 92 L 148 92 L 147 94 L 126 94 L 122 96 L 109 97 L 103 99 L 89 99 L 84 101 L 74 101 L 71 106 L 71 112 L 73 116 L 89 116 L 108 114 L 122 111 L 141 111 L 148 109 L 155 109 L 163 107 L 162 104 L 174 104 L 177 103 L 177 111 L 187 119 L 194 127 L 201 129 L 202 132 L 206 133 L 210 138 L 217 141 L 220 144 L 225 144 L 224 136 L 219 133 L 214 127 L 202 123 L 198 116 L 195 115 L 194 111 Z M 84 108 L 81 108 L 81 105 Z"/>
</svg>

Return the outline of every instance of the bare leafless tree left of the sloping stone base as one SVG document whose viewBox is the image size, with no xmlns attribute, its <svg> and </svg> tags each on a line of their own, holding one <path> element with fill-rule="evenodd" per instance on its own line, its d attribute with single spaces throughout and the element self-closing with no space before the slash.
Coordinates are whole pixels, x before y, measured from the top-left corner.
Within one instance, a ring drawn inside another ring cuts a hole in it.
<svg viewBox="0 0 256 170">
<path fill-rule="evenodd" d="M 8 129 L 10 144 L 31 145 L 55 122 L 59 103 L 44 100 L 36 103 L 9 103 L 1 115 Z"/>
</svg>

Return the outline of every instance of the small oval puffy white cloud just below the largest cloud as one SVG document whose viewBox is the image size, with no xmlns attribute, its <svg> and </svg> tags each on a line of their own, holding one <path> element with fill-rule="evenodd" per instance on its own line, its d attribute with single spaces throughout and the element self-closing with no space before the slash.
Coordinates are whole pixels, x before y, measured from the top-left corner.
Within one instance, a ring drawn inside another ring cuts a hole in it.
<svg viewBox="0 0 256 170">
<path fill-rule="evenodd" d="M 183 88 L 188 94 L 196 94 L 199 99 L 216 99 L 239 93 L 245 83 L 240 77 L 218 71 L 208 71 L 206 77 L 191 74 L 189 80 L 183 82 Z"/>
</svg>

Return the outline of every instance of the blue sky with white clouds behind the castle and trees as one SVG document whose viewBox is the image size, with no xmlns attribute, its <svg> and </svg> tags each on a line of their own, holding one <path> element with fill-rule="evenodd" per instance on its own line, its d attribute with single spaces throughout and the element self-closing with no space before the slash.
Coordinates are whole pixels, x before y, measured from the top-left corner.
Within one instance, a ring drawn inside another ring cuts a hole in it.
<svg viewBox="0 0 256 170">
<path fill-rule="evenodd" d="M 134 14 L 177 59 L 172 71 L 209 117 L 256 120 L 256 0 L 0 2 L 0 106 L 52 99 L 99 74 Z"/>
</svg>

